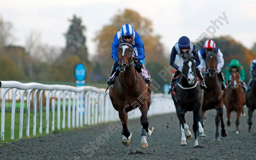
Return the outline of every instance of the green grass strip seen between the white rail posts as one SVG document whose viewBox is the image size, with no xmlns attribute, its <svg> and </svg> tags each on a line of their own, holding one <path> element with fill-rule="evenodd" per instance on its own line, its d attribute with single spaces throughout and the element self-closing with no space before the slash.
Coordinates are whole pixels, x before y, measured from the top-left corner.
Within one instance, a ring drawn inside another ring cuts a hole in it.
<svg viewBox="0 0 256 160">
<path fill-rule="evenodd" d="M 55 107 L 56 109 L 57 107 Z M 62 108 L 62 106 L 61 106 Z M 24 108 L 24 111 L 26 111 L 26 109 Z M 72 112 L 72 111 L 71 111 Z M 1 112 L 0 112 L 1 115 Z M 65 129 L 62 129 L 62 116 L 63 112 L 61 109 L 61 116 L 60 116 L 60 130 L 57 129 L 57 110 L 55 110 L 55 131 L 52 132 L 52 111 L 51 111 L 51 107 L 50 107 L 50 112 L 49 112 L 49 134 L 51 133 L 57 133 L 57 132 L 63 132 L 63 131 L 68 131 L 68 130 L 74 130 L 77 128 L 72 128 L 72 113 L 71 113 L 71 128 L 67 128 L 67 110 L 66 110 L 66 121 L 65 121 Z M 23 113 L 23 132 L 22 132 L 22 139 L 25 138 L 33 138 L 33 137 L 38 137 L 40 136 L 39 134 L 39 117 L 40 117 L 40 112 L 37 109 L 37 120 L 36 120 L 36 136 L 33 136 L 33 116 L 34 116 L 34 111 L 30 111 L 30 131 L 29 131 L 29 137 L 26 136 L 26 119 L 27 119 L 27 113 L 24 112 Z M 1 119 L 0 119 L 0 124 L 1 124 Z M 10 110 L 5 110 L 5 140 L 4 141 L 0 141 L 1 143 L 5 143 L 5 142 L 12 142 L 12 141 L 16 141 L 19 139 L 19 125 L 20 125 L 20 109 L 16 109 L 15 112 L 15 121 L 14 121 L 14 140 L 11 140 L 11 111 Z M 46 128 L 46 111 L 45 109 L 43 109 L 43 113 L 42 113 L 42 135 L 48 135 L 45 133 L 45 128 Z"/>
</svg>

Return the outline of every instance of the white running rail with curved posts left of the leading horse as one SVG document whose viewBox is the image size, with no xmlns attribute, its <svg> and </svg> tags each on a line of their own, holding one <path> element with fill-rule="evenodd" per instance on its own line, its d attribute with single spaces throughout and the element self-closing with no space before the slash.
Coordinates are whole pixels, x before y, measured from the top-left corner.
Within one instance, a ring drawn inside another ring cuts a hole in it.
<svg viewBox="0 0 256 160">
<path fill-rule="evenodd" d="M 112 107 L 109 99 L 108 91 L 105 92 L 104 88 L 96 88 L 93 86 L 74 87 L 69 85 L 44 85 L 40 83 L 20 83 L 16 81 L 1 81 L 0 88 L 4 91 L 1 95 L 2 98 L 2 110 L 1 110 L 1 140 L 4 140 L 5 134 L 5 96 L 9 90 L 12 90 L 12 113 L 11 113 L 11 139 L 14 139 L 14 119 L 15 119 L 15 105 L 17 97 L 20 99 L 20 126 L 19 126 L 19 138 L 22 138 L 23 129 L 23 108 L 24 99 L 27 99 L 27 123 L 26 123 L 26 136 L 30 134 L 30 96 L 33 96 L 33 135 L 36 135 L 36 129 L 39 130 L 39 134 L 42 134 L 42 95 L 43 92 L 46 95 L 46 129 L 45 133 L 49 133 L 49 123 L 52 122 L 51 130 L 54 131 L 55 127 L 58 130 L 60 128 L 75 128 L 82 127 L 83 125 L 96 124 L 100 122 L 108 122 L 115 120 L 118 117 L 118 112 Z M 17 91 L 20 95 L 16 95 Z M 25 93 L 27 92 L 27 96 Z M 39 100 L 37 106 L 37 95 Z M 57 102 L 57 125 L 55 126 L 55 96 L 58 99 Z M 26 100 L 25 99 L 25 100 Z M 50 111 L 50 99 L 52 99 L 52 106 Z M 66 99 L 68 105 L 66 106 Z M 73 100 L 73 101 L 72 101 Z M 62 101 L 62 107 L 61 107 Z M 72 104 L 71 104 L 72 102 Z M 80 107 L 81 106 L 81 107 Z M 39 109 L 37 112 L 37 108 Z M 66 117 L 67 108 L 67 117 Z M 61 110 L 63 113 L 61 121 Z M 52 118 L 49 118 L 49 112 L 52 112 Z M 39 115 L 39 120 L 37 115 Z M 85 116 L 84 116 L 85 115 Z M 67 120 L 67 126 L 65 125 Z M 36 126 L 36 122 L 39 121 L 39 126 Z M 60 124 L 62 122 L 62 125 Z"/>
</svg>

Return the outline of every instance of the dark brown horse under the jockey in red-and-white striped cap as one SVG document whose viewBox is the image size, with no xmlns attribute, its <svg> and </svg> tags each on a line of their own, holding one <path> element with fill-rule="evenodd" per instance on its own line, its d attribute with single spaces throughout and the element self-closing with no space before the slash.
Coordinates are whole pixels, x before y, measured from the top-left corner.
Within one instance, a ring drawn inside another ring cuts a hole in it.
<svg viewBox="0 0 256 160">
<path fill-rule="evenodd" d="M 221 122 L 221 136 L 226 137 L 227 132 L 225 130 L 225 125 L 223 122 L 223 105 L 224 105 L 224 92 L 226 92 L 227 88 L 222 91 L 221 83 L 217 75 L 217 65 L 218 60 L 217 56 L 214 53 L 210 53 L 206 56 L 206 69 L 207 72 L 204 74 L 204 81 L 207 86 L 207 89 L 204 89 L 204 101 L 202 105 L 202 113 L 201 113 L 201 122 L 203 122 L 202 126 L 204 127 L 204 113 L 209 109 L 215 108 L 217 111 L 215 117 L 215 125 L 216 125 L 216 133 L 215 133 L 215 141 L 220 141 L 219 139 L 219 123 Z M 226 80 L 226 86 L 228 82 Z"/>
</svg>

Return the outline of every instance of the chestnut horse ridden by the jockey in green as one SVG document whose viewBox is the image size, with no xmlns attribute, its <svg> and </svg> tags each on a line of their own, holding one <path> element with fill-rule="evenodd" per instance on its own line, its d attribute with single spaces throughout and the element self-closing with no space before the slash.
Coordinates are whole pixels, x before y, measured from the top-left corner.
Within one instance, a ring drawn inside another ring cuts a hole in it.
<svg viewBox="0 0 256 160">
<path fill-rule="evenodd" d="M 236 134 L 239 133 L 239 119 L 241 113 L 244 112 L 245 94 L 242 85 L 239 83 L 239 73 L 231 73 L 231 81 L 225 96 L 225 107 L 227 110 L 227 125 L 230 126 L 231 112 L 236 112 Z"/>
</svg>

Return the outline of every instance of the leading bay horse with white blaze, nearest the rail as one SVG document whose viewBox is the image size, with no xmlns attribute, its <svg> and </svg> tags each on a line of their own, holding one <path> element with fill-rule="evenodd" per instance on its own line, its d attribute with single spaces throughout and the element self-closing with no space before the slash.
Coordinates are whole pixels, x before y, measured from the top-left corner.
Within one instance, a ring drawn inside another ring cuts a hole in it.
<svg viewBox="0 0 256 160">
<path fill-rule="evenodd" d="M 133 61 L 133 38 L 130 42 L 122 42 L 119 38 L 118 51 L 118 68 L 119 75 L 115 76 L 114 85 L 109 89 L 109 97 L 113 107 L 118 111 L 120 121 L 123 125 L 123 145 L 130 144 L 132 133 L 127 127 L 128 112 L 139 108 L 141 112 L 140 124 L 142 125 L 140 147 L 148 147 L 146 141 L 150 136 L 154 127 L 148 128 L 147 119 L 148 109 L 151 103 L 151 84 L 146 86 L 146 82 L 142 75 L 134 68 Z M 148 73 L 149 74 L 149 73 Z"/>
</svg>

